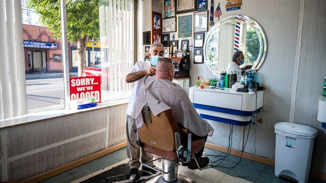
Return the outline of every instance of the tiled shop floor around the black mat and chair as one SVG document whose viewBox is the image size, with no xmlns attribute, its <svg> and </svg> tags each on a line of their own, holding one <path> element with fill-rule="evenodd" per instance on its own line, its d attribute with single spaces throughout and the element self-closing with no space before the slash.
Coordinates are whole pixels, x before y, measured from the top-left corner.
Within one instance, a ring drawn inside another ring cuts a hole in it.
<svg viewBox="0 0 326 183">
<path fill-rule="evenodd" d="M 216 156 L 208 156 L 210 159 L 210 164 L 215 162 L 213 165 L 218 165 L 221 163 L 221 161 L 216 160 L 223 158 L 223 156 L 226 154 L 221 153 L 220 151 L 205 148 L 204 155 L 219 155 L 218 158 L 216 158 Z M 122 148 L 111 154 L 98 158 L 84 165 L 80 165 L 42 182 L 79 182 L 87 179 L 87 177 L 93 176 L 93 174 L 98 174 L 100 171 L 110 169 L 112 165 L 117 166 L 119 164 L 126 163 L 126 159 L 126 148 Z M 276 177 L 274 175 L 273 166 L 253 162 L 247 159 L 242 159 L 239 162 L 239 159 L 239 157 L 229 155 L 219 166 L 207 168 L 201 171 L 190 170 L 187 167 L 179 166 L 179 173 L 193 179 L 197 183 L 291 182 Z M 237 163 L 238 165 L 236 165 Z M 157 165 L 160 166 L 160 164 Z M 308 182 L 321 183 L 324 181 L 309 178 Z"/>
</svg>

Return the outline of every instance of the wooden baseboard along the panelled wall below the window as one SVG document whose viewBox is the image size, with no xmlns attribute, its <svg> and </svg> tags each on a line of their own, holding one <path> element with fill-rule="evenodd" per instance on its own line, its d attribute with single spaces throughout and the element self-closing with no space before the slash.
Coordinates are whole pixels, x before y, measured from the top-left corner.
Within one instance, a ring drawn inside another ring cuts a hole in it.
<svg viewBox="0 0 326 183">
<path fill-rule="evenodd" d="M 75 168 L 75 167 L 77 167 L 79 165 L 83 165 L 83 164 L 88 163 L 90 161 L 93 161 L 93 160 L 95 160 L 97 158 L 100 158 L 102 156 L 110 154 L 110 153 L 112 153 L 112 152 L 114 152 L 116 150 L 119 150 L 119 149 L 121 149 L 123 147 L 126 147 L 126 146 L 127 146 L 127 142 L 123 142 L 123 143 L 115 145 L 113 147 L 101 150 L 98 153 L 95 153 L 95 154 L 90 155 L 88 157 L 85 157 L 85 158 L 76 160 L 74 162 L 71 162 L 71 163 L 69 163 L 67 165 L 64 165 L 62 167 L 50 170 L 50 171 L 45 172 L 45 173 L 41 173 L 39 175 L 36 175 L 34 177 L 31 177 L 31 178 L 28 178 L 28 179 L 25 179 L 25 180 L 22 180 L 21 182 L 39 182 L 39 181 L 45 180 L 45 179 L 50 178 L 52 176 L 55 176 L 55 175 L 58 175 L 60 173 L 65 172 L 65 171 L 68 171 L 68 170 L 70 170 L 72 168 Z"/>
</svg>

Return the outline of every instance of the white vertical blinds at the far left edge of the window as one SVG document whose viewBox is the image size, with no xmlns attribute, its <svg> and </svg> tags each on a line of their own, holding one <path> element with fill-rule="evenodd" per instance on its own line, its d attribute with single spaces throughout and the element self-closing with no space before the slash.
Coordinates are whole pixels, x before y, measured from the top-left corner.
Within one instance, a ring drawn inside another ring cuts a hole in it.
<svg viewBox="0 0 326 183">
<path fill-rule="evenodd" d="M 0 0 L 0 119 L 28 113 L 21 1 Z"/>
</svg>

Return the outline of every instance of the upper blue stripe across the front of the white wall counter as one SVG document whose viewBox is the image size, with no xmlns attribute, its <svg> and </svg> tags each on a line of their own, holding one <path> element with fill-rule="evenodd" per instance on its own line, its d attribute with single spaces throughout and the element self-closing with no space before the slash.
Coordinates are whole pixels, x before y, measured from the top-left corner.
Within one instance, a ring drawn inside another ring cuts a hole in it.
<svg viewBox="0 0 326 183">
<path fill-rule="evenodd" d="M 251 116 L 254 113 L 254 111 L 241 111 L 241 110 L 227 109 L 222 107 L 208 106 L 208 105 L 196 104 L 196 103 L 193 103 L 193 106 L 198 109 L 223 112 L 223 113 L 239 115 L 239 116 Z M 260 109 L 257 109 L 257 113 L 259 112 L 259 110 Z"/>
</svg>

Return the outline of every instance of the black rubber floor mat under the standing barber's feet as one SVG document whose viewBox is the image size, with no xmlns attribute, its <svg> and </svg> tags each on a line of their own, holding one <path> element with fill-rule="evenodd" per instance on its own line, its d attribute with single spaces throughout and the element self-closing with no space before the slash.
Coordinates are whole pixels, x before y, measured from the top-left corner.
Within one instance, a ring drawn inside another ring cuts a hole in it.
<svg viewBox="0 0 326 183">
<path fill-rule="evenodd" d="M 97 174 L 91 178 L 88 178 L 82 182 L 91 183 L 91 182 L 144 182 L 153 175 L 139 170 L 141 178 L 139 180 L 130 181 L 129 180 L 130 166 L 127 164 L 122 164 L 117 167 L 114 167 L 110 170 Z"/>
</svg>

